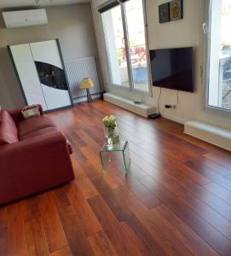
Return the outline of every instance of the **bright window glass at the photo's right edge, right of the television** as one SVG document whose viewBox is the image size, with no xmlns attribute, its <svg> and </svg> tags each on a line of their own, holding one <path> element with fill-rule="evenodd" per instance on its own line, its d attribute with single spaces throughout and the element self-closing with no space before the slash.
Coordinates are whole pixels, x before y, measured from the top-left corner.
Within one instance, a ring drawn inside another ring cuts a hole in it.
<svg viewBox="0 0 231 256">
<path fill-rule="evenodd" d="M 231 0 L 211 0 L 207 103 L 231 110 Z"/>
</svg>

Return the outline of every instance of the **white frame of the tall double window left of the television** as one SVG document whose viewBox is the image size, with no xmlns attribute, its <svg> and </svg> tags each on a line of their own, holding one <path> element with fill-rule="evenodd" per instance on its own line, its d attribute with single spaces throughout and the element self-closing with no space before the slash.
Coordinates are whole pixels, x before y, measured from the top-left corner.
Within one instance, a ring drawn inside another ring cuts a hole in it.
<svg viewBox="0 0 231 256">
<path fill-rule="evenodd" d="M 152 90 L 152 76 L 151 76 L 151 64 L 150 64 L 150 57 L 149 57 L 149 48 L 148 48 L 148 38 L 147 38 L 147 14 L 146 14 L 146 1 L 141 0 L 142 2 L 142 13 L 143 13 L 143 19 L 144 19 L 144 31 L 145 31 L 145 45 L 146 45 L 146 55 L 147 55 L 147 85 L 148 85 L 148 91 L 145 90 L 138 90 L 134 86 L 134 81 L 133 81 L 133 73 L 132 73 L 132 64 L 130 60 L 130 43 L 129 43 L 129 33 L 128 33 L 128 25 L 127 25 L 127 20 L 126 20 L 126 10 L 125 10 L 125 3 L 130 0 L 126 1 L 119 1 L 119 8 L 121 11 L 121 17 L 122 17 L 122 25 L 123 25 L 123 32 L 124 32 L 124 43 L 125 43 L 125 50 L 126 50 L 126 58 L 127 58 L 127 68 L 128 68 L 128 77 L 129 77 L 129 87 L 124 86 L 123 84 L 114 84 L 113 79 L 112 79 L 112 69 L 109 61 L 109 54 L 108 54 L 108 49 L 107 49 L 107 37 L 105 37 L 105 27 L 104 27 L 104 22 L 101 16 L 101 27 L 102 27 L 102 32 L 103 32 L 103 44 L 105 45 L 105 55 L 107 56 L 107 67 L 109 71 L 109 82 L 110 86 L 113 86 L 114 88 L 121 88 L 123 90 L 129 90 L 131 92 L 136 92 L 136 93 L 141 93 L 149 96 L 153 96 L 153 90 Z M 105 4 L 104 4 L 105 5 Z M 106 4 L 107 5 L 107 4 Z M 115 7 L 113 7 L 115 8 Z M 113 9 L 111 8 L 111 9 Z M 108 9 L 109 10 L 109 9 Z"/>
</svg>

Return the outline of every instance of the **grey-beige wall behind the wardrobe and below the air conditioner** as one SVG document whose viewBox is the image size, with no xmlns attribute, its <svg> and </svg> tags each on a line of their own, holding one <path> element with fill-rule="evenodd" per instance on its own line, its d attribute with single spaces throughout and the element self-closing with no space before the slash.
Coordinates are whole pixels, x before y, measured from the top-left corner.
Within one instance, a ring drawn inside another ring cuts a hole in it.
<svg viewBox="0 0 231 256">
<path fill-rule="evenodd" d="M 0 15 L 0 105 L 19 108 L 24 105 L 7 45 L 60 39 L 64 61 L 90 55 L 98 58 L 90 3 L 49 7 L 49 24 L 5 28 Z"/>
</svg>

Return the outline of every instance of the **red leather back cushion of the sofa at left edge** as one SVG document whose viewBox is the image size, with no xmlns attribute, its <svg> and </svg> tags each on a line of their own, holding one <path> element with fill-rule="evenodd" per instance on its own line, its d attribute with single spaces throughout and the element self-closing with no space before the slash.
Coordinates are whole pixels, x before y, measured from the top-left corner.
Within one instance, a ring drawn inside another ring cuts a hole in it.
<svg viewBox="0 0 231 256">
<path fill-rule="evenodd" d="M 18 131 L 14 119 L 6 110 L 2 110 L 0 113 L 0 145 L 18 142 Z"/>
</svg>

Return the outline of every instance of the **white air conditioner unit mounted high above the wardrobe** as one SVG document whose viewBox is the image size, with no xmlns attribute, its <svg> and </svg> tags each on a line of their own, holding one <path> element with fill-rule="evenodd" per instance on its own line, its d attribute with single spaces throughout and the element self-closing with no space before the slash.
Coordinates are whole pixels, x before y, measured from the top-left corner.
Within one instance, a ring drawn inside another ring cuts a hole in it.
<svg viewBox="0 0 231 256">
<path fill-rule="evenodd" d="M 3 19 L 7 28 L 48 24 L 45 9 L 3 12 Z"/>
</svg>

